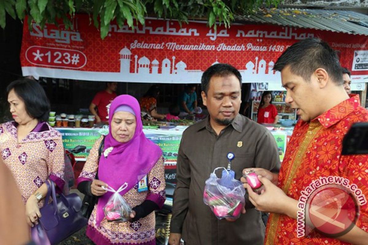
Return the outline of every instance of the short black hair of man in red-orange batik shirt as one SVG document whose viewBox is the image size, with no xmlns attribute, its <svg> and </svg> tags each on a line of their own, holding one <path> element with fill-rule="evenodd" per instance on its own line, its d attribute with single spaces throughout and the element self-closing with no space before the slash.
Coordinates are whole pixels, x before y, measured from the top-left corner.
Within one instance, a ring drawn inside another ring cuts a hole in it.
<svg viewBox="0 0 368 245">
<path fill-rule="evenodd" d="M 277 59 L 273 69 L 281 72 L 288 65 L 291 72 L 301 76 L 305 81 L 309 82 L 316 69 L 323 68 L 333 82 L 343 84 L 339 56 L 319 38 L 307 38 L 291 45 Z"/>
</svg>

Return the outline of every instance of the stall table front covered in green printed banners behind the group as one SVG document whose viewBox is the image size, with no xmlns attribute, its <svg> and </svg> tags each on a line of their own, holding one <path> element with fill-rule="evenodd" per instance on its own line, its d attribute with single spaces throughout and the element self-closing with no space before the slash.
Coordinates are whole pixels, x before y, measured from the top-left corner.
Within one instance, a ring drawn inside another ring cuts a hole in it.
<svg viewBox="0 0 368 245">
<path fill-rule="evenodd" d="M 165 164 L 165 180 L 169 183 L 176 183 L 176 161 L 178 156 L 179 145 L 181 141 L 181 135 L 187 126 L 176 126 L 170 128 L 157 128 L 152 127 L 143 128 L 143 132 L 147 138 L 152 140 L 162 149 L 162 154 Z M 277 144 L 279 150 L 280 161 L 283 161 L 286 144 L 288 137 L 291 136 L 292 127 L 267 127 Z M 106 129 L 100 128 L 70 128 L 70 127 L 57 127 L 62 137 L 65 149 L 73 149 L 78 145 L 84 145 L 86 147 L 84 152 L 75 155 L 77 161 L 85 161 L 89 151 L 93 147 L 95 141 L 101 136 L 106 134 Z M 291 130 L 291 131 L 290 131 Z"/>
</svg>

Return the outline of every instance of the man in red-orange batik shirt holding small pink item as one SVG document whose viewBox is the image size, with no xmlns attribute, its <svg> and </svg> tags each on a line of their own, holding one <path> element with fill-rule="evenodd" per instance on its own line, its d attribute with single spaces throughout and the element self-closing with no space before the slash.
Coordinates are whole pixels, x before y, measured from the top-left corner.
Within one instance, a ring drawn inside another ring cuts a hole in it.
<svg viewBox="0 0 368 245">
<path fill-rule="evenodd" d="M 301 120 L 279 174 L 253 169 L 263 183 L 260 195 L 241 178 L 256 209 L 271 213 L 265 244 L 367 244 L 368 155 L 341 150 L 344 135 L 353 123 L 367 122 L 368 111 L 346 93 L 339 57 L 321 39 L 293 44 L 274 70 Z"/>
</svg>

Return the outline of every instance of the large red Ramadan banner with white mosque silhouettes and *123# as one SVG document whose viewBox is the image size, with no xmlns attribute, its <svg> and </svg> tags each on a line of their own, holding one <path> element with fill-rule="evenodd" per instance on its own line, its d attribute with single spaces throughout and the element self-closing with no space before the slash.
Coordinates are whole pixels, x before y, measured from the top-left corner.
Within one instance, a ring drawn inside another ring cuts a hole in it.
<svg viewBox="0 0 368 245">
<path fill-rule="evenodd" d="M 291 44 L 320 37 L 339 52 L 353 82 L 368 82 L 368 39 L 312 29 L 233 24 L 217 30 L 205 22 L 146 19 L 144 26 L 110 25 L 105 40 L 88 15 L 74 18 L 74 30 L 24 21 L 21 65 L 24 76 L 78 80 L 199 83 L 216 62 L 240 70 L 244 82 L 279 83 L 274 62 Z M 365 79 L 367 78 L 367 79 Z"/>
</svg>

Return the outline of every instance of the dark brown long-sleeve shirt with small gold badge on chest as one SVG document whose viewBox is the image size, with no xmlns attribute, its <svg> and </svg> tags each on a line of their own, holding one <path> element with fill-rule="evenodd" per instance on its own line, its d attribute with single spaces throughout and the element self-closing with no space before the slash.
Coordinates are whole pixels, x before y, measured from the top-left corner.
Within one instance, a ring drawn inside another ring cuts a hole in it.
<svg viewBox="0 0 368 245">
<path fill-rule="evenodd" d="M 272 134 L 242 115 L 237 115 L 218 136 L 210 126 L 209 118 L 188 127 L 179 147 L 170 227 L 172 233 L 181 233 L 188 245 L 263 244 L 265 226 L 261 212 L 254 209 L 248 195 L 245 197 L 247 213 L 235 222 L 218 220 L 203 202 L 205 181 L 216 167 L 227 168 L 228 152 L 235 155 L 231 169 L 237 180 L 247 167 L 274 172 L 280 167 Z M 221 176 L 221 170 L 217 171 Z"/>
</svg>

